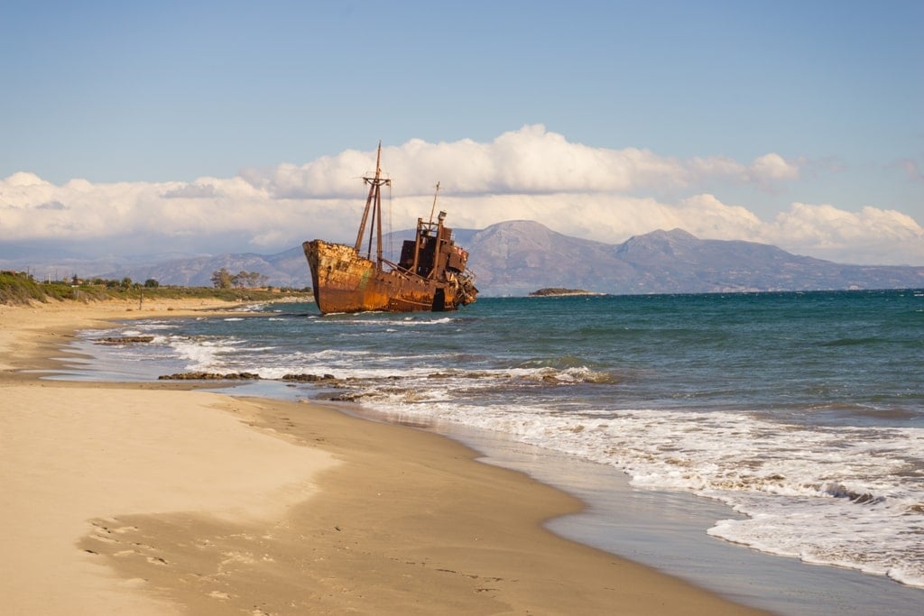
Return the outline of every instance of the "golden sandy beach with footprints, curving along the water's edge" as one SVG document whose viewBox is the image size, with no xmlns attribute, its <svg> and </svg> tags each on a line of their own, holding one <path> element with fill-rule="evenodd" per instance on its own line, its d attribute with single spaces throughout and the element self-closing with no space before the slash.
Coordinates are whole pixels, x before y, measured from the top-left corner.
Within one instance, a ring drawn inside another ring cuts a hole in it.
<svg viewBox="0 0 924 616">
<path fill-rule="evenodd" d="M 580 501 L 429 432 L 40 378 L 75 330 L 226 308 L 0 307 L 3 613 L 765 613 L 553 535 Z"/>
</svg>

